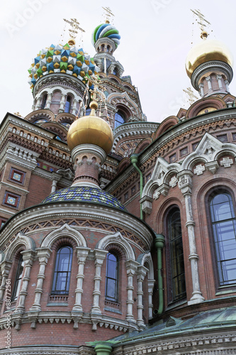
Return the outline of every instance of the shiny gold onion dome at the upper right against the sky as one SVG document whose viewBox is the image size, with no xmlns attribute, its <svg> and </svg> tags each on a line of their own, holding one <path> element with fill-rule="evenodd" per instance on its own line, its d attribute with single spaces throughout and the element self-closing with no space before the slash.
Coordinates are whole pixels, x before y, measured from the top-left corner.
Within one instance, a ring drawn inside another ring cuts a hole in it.
<svg viewBox="0 0 236 355">
<path fill-rule="evenodd" d="M 219 40 L 208 40 L 207 36 L 208 33 L 203 32 L 201 35 L 203 40 L 194 45 L 187 55 L 185 67 L 190 78 L 198 65 L 209 62 L 210 60 L 220 60 L 232 67 L 232 54 L 227 46 Z"/>
</svg>

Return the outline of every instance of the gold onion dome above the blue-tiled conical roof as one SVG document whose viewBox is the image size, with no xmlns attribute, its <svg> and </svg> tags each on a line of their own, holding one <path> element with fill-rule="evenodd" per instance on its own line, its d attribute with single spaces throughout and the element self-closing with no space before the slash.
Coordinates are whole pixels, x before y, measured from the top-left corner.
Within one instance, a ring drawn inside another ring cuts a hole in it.
<svg viewBox="0 0 236 355">
<path fill-rule="evenodd" d="M 91 114 L 89 116 L 77 119 L 69 127 L 67 144 L 70 151 L 80 144 L 94 144 L 108 154 L 113 146 L 113 132 L 106 121 L 96 116 L 95 110 L 98 104 L 91 102 L 90 107 Z"/>
</svg>

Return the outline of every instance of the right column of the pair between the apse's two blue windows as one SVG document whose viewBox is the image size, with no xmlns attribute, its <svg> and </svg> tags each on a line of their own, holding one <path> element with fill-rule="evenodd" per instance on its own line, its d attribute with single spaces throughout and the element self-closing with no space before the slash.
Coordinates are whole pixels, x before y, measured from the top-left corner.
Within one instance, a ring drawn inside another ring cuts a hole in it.
<svg viewBox="0 0 236 355">
<path fill-rule="evenodd" d="M 103 264 L 103 260 L 106 258 L 106 254 L 108 251 L 95 249 L 94 256 L 95 256 L 95 275 L 94 275 L 94 304 L 91 308 L 91 313 L 101 314 L 101 310 L 99 307 L 99 300 L 100 300 L 100 283 L 101 283 L 101 266 Z"/>
</svg>

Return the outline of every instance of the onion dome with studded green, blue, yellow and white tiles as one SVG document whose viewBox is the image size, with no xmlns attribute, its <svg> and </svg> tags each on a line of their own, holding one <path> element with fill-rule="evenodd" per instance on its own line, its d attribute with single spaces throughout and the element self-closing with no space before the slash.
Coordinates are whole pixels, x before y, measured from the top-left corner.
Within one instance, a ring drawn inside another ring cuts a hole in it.
<svg viewBox="0 0 236 355">
<path fill-rule="evenodd" d="M 77 77 L 86 83 L 86 77 L 96 75 L 98 68 L 93 58 L 84 53 L 82 48 L 74 45 L 50 45 L 50 48 L 40 50 L 28 70 L 30 88 L 43 75 L 62 72 Z"/>
</svg>

